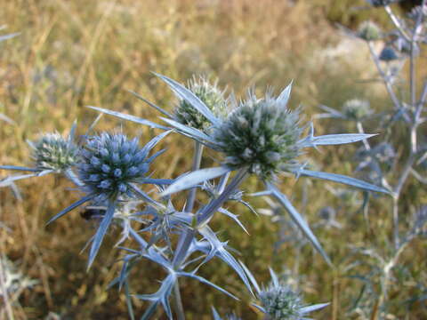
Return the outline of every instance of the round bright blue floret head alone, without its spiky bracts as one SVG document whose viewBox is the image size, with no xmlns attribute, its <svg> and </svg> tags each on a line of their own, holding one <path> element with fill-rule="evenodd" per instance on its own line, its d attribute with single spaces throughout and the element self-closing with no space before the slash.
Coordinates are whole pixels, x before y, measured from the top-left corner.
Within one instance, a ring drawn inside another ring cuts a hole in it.
<svg viewBox="0 0 427 320">
<path fill-rule="evenodd" d="M 95 196 L 132 196 L 131 184 L 149 171 L 147 151 L 139 148 L 138 139 L 128 140 L 120 133 L 89 137 L 81 155 L 79 178 L 85 191 Z"/>
</svg>

